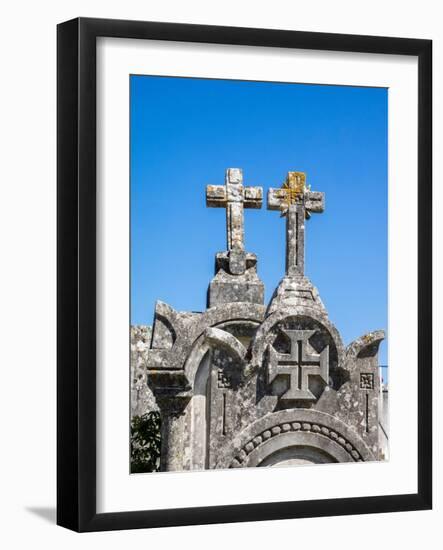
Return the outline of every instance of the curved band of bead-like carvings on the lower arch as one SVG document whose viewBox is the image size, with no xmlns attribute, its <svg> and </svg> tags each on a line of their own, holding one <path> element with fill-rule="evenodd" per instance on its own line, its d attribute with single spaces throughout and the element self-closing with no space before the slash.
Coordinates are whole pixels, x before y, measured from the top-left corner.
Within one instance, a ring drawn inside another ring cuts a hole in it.
<svg viewBox="0 0 443 550">
<path fill-rule="evenodd" d="M 311 432 L 319 435 L 323 435 L 335 441 L 343 447 L 343 449 L 350 455 L 354 462 L 363 462 L 363 458 L 357 449 L 340 433 L 335 430 L 331 430 L 327 426 L 323 426 L 319 423 L 310 423 L 310 422 L 285 422 L 282 424 L 277 424 L 272 428 L 264 430 L 261 434 L 250 439 L 241 450 L 236 454 L 234 460 L 231 462 L 229 468 L 241 468 L 243 463 L 247 459 L 248 455 L 256 449 L 262 443 L 268 441 L 272 437 L 278 436 L 282 433 L 288 432 Z"/>
</svg>

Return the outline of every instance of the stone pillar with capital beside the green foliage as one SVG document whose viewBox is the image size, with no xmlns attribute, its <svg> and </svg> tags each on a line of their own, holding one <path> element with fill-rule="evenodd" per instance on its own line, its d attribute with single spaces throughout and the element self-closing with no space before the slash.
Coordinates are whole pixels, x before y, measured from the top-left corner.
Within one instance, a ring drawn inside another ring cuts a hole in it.
<svg viewBox="0 0 443 550">
<path fill-rule="evenodd" d="M 189 396 L 159 396 L 161 414 L 160 470 L 177 472 L 184 469 L 185 411 Z"/>
</svg>

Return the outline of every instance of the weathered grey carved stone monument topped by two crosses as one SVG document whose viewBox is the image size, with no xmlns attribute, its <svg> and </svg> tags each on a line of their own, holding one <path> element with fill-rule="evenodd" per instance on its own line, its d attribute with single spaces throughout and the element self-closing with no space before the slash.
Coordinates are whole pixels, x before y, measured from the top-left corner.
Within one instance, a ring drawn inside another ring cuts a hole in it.
<svg viewBox="0 0 443 550">
<path fill-rule="evenodd" d="M 207 205 L 226 208 L 227 229 L 208 308 L 156 304 L 137 369 L 145 361 L 161 413 L 161 470 L 382 458 L 377 354 L 384 333 L 345 347 L 304 273 L 305 224 L 323 212 L 324 194 L 311 191 L 302 172 L 269 190 L 268 209 L 286 217 L 286 273 L 267 307 L 243 228 L 244 209 L 260 208 L 262 197 L 235 168 L 224 186 L 207 186 Z"/>
</svg>

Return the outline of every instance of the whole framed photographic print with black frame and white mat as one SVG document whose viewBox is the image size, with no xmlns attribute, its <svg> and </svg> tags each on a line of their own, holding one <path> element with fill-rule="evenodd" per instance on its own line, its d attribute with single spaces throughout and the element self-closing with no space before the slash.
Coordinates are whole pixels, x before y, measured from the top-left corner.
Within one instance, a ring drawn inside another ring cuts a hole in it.
<svg viewBox="0 0 443 550">
<path fill-rule="evenodd" d="M 431 52 L 59 25 L 59 525 L 431 507 Z"/>
</svg>

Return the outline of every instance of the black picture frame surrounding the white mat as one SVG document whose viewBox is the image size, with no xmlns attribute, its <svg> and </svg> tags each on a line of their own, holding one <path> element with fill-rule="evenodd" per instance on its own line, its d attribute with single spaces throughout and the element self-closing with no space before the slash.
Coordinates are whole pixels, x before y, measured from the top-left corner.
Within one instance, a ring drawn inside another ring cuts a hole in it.
<svg viewBox="0 0 443 550">
<path fill-rule="evenodd" d="M 418 58 L 418 491 L 416 494 L 96 512 L 96 39 L 136 38 Z M 104 531 L 432 507 L 432 42 L 79 18 L 57 29 L 57 523 Z"/>
</svg>

